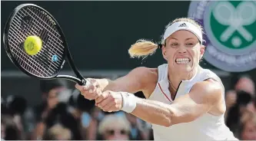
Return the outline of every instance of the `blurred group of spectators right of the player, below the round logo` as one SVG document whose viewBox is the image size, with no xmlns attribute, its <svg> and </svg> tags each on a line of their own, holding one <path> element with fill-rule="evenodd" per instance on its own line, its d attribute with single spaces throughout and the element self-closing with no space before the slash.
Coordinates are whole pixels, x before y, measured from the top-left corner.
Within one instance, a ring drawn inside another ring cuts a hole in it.
<svg viewBox="0 0 256 141">
<path fill-rule="evenodd" d="M 225 121 L 238 139 L 256 140 L 255 84 L 248 76 L 238 79 L 234 90 L 225 93 Z"/>
</svg>

